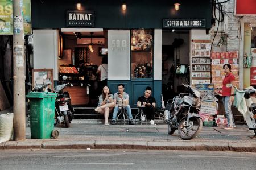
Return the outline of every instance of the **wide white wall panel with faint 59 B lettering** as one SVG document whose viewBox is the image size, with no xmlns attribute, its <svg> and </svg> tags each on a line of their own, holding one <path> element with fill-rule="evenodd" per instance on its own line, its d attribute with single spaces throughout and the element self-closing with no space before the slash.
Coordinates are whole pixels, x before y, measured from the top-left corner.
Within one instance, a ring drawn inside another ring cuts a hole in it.
<svg viewBox="0 0 256 170">
<path fill-rule="evenodd" d="M 130 67 L 130 30 L 108 30 L 108 80 L 130 80 Z"/>
</svg>

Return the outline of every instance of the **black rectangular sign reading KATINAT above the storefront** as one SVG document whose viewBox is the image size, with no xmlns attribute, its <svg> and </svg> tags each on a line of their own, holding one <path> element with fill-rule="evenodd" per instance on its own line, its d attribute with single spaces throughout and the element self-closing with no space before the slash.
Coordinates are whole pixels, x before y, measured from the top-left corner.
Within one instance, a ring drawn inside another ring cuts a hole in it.
<svg viewBox="0 0 256 170">
<path fill-rule="evenodd" d="M 94 27 L 94 11 L 67 11 L 66 26 Z"/>
</svg>

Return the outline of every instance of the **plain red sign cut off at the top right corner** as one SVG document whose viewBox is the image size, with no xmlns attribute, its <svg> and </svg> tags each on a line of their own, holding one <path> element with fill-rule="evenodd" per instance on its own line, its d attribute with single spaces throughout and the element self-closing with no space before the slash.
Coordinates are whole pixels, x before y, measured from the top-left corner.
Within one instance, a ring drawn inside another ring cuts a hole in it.
<svg viewBox="0 0 256 170">
<path fill-rule="evenodd" d="M 236 0 L 235 15 L 256 16 L 256 1 L 255 0 Z"/>
</svg>

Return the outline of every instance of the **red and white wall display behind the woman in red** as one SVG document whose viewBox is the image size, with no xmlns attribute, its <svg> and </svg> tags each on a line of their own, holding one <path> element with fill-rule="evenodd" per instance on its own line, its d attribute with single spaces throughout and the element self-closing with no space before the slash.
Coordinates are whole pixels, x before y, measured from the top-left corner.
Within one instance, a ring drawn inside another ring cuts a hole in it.
<svg viewBox="0 0 256 170">
<path fill-rule="evenodd" d="M 211 52 L 212 59 L 212 83 L 214 88 L 222 87 L 222 80 L 225 77 L 224 64 L 230 64 L 232 74 L 235 76 L 235 85 L 239 86 L 238 52 Z"/>
</svg>

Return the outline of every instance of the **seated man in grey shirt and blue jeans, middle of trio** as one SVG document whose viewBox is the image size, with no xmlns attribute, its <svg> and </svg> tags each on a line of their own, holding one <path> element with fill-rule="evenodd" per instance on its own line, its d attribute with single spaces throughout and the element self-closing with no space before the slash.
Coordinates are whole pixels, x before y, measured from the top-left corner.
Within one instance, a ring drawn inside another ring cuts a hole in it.
<svg viewBox="0 0 256 170">
<path fill-rule="evenodd" d="M 115 103 L 115 109 L 113 112 L 111 125 L 115 125 L 116 120 L 117 120 L 117 113 L 119 111 L 119 107 L 118 107 L 117 103 L 125 106 L 124 108 L 126 110 L 128 118 L 129 118 L 129 125 L 134 125 L 133 115 L 131 115 L 131 107 L 129 105 L 129 95 L 124 92 L 125 85 L 118 84 L 117 88 L 118 88 L 118 92 L 114 94 L 114 100 L 113 100 L 113 102 Z"/>
</svg>

